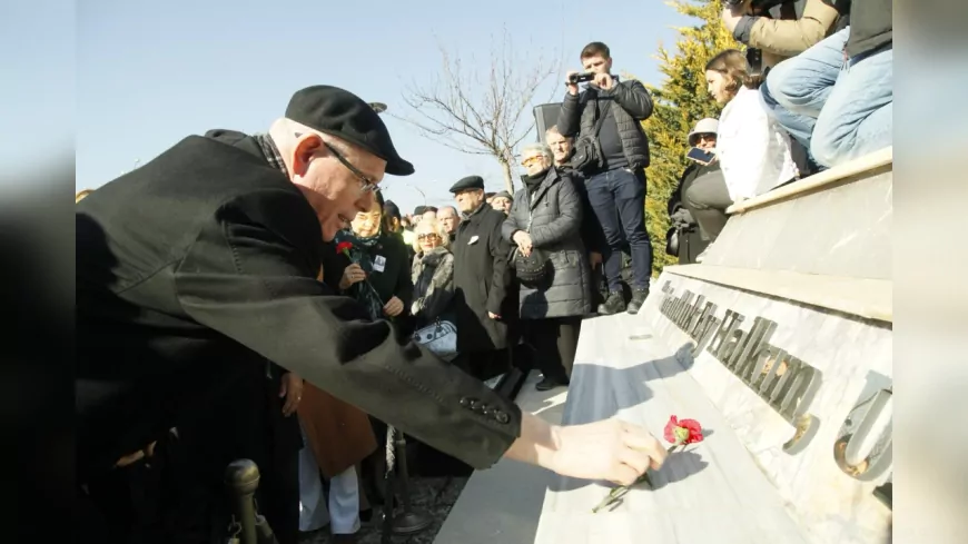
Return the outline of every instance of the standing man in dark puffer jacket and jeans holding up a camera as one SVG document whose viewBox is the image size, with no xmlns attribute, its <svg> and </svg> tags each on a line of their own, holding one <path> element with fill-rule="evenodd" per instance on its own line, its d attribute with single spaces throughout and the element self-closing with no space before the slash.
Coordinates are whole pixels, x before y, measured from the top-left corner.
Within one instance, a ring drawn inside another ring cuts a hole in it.
<svg viewBox="0 0 968 544">
<path fill-rule="evenodd" d="M 625 309 L 622 294 L 622 245 L 632 250 L 633 290 L 628 310 L 635 314 L 649 296 L 652 243 L 645 231 L 645 171 L 649 141 L 640 121 L 652 115 L 652 98 L 639 81 L 619 81 L 610 73 L 609 47 L 592 42 L 582 49 L 585 73 L 570 71 L 557 128 L 574 137 L 572 166 L 586 177 L 589 201 L 602 226 L 609 297 L 599 314 Z M 587 88 L 579 92 L 580 82 Z"/>
</svg>

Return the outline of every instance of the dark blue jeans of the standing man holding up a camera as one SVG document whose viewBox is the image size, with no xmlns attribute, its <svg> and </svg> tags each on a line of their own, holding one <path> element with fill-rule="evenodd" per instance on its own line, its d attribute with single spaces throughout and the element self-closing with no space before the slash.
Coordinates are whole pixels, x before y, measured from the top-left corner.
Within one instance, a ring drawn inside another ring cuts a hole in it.
<svg viewBox="0 0 968 544">
<path fill-rule="evenodd" d="M 652 276 L 652 240 L 645 230 L 645 172 L 626 168 L 589 178 L 589 201 L 605 235 L 602 259 L 609 290 L 622 290 L 622 245 L 632 251 L 632 287 L 648 289 Z"/>
</svg>

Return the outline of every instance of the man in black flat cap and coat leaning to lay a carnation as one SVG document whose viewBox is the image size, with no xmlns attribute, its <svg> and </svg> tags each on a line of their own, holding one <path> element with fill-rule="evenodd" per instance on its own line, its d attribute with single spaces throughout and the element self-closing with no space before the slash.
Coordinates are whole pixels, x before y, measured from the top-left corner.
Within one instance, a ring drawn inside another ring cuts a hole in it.
<svg viewBox="0 0 968 544">
<path fill-rule="evenodd" d="M 78 202 L 78 497 L 103 512 L 93 489 L 119 459 L 160 448 L 266 360 L 475 468 L 506 456 L 630 484 L 661 464 L 643 428 L 523 414 L 317 280 L 384 175 L 413 172 L 367 102 L 315 86 L 268 133 L 189 136 Z"/>
</svg>

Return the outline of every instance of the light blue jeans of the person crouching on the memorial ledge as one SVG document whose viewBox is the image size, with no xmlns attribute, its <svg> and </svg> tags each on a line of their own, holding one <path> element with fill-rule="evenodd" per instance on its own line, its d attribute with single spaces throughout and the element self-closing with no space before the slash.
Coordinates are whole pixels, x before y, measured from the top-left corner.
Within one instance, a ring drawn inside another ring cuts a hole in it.
<svg viewBox="0 0 968 544">
<path fill-rule="evenodd" d="M 893 50 L 843 62 L 846 28 L 780 62 L 760 87 L 767 110 L 811 158 L 832 167 L 891 145 Z"/>
</svg>

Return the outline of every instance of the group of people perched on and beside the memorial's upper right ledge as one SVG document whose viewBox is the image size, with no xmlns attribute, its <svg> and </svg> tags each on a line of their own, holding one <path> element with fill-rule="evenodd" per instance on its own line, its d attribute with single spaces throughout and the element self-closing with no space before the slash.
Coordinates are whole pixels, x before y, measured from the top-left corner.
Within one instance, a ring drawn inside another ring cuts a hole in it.
<svg viewBox="0 0 968 544">
<path fill-rule="evenodd" d="M 733 204 L 892 141 L 890 0 L 734 3 L 722 20 L 749 49 L 707 63 L 722 113 L 687 136 L 705 154 L 691 154 L 669 200 L 666 253 L 681 264 L 703 261 Z"/>
</svg>

